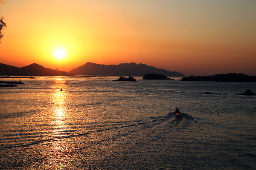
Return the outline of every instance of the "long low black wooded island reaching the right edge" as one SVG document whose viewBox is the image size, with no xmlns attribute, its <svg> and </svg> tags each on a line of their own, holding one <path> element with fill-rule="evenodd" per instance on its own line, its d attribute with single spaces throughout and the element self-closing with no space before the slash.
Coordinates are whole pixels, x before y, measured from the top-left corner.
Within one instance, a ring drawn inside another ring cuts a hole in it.
<svg viewBox="0 0 256 170">
<path fill-rule="evenodd" d="M 181 81 L 213 81 L 213 82 L 256 82 L 256 76 L 246 74 L 216 74 L 214 76 L 189 76 L 183 77 Z"/>
</svg>

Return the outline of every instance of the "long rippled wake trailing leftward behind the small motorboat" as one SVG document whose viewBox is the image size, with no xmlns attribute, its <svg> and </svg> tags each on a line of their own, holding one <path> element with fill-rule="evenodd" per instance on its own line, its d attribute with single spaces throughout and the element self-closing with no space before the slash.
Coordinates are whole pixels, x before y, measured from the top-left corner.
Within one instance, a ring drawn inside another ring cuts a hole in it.
<svg viewBox="0 0 256 170">
<path fill-rule="evenodd" d="M 141 132 L 142 130 L 170 128 L 184 129 L 192 124 L 193 118 L 187 113 L 182 116 L 176 116 L 174 113 L 168 113 L 167 116 L 148 117 L 144 120 L 117 121 L 117 122 L 99 122 L 97 125 L 73 125 L 59 129 L 58 134 L 51 132 L 38 132 L 35 129 L 13 131 L 12 135 L 1 136 L 0 150 L 11 149 L 15 147 L 26 147 L 35 144 L 53 142 L 61 139 L 75 138 L 78 136 L 91 136 L 101 132 L 119 131 L 121 136 L 127 133 Z M 49 127 L 47 127 L 49 128 Z M 122 130 L 121 130 L 122 129 Z M 6 134 L 10 132 L 5 132 Z M 50 134 L 49 134 L 50 133 Z M 41 138 L 41 140 L 40 140 Z M 39 139 L 39 140 L 36 140 Z M 33 141 L 34 140 L 34 141 Z"/>
</svg>

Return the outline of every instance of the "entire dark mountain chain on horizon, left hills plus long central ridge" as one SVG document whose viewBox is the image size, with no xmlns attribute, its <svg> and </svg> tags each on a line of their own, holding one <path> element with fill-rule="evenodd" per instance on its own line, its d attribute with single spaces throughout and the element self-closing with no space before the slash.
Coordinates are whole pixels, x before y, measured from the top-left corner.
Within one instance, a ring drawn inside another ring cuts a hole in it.
<svg viewBox="0 0 256 170">
<path fill-rule="evenodd" d="M 71 75 L 90 75 L 90 76 L 144 76 L 145 74 L 163 74 L 168 77 L 184 77 L 179 72 L 166 71 L 145 64 L 122 63 L 119 65 L 100 65 L 87 62 L 84 65 L 74 68 L 67 72 L 58 69 L 44 68 L 43 66 L 33 63 L 25 67 L 14 67 L 0 63 L 0 75 L 10 76 L 71 76 Z"/>
</svg>

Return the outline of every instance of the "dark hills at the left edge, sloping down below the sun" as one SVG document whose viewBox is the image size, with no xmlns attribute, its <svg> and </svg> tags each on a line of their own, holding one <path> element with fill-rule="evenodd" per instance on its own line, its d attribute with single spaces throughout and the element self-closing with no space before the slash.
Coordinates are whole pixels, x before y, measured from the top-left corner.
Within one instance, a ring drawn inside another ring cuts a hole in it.
<svg viewBox="0 0 256 170">
<path fill-rule="evenodd" d="M 2 66 L 1 64 L 0 66 Z M 67 74 L 64 71 L 56 71 L 51 68 L 44 68 L 39 64 L 31 64 L 25 67 L 17 68 L 10 65 L 3 65 L 6 69 L 0 70 L 1 75 L 12 75 L 12 76 L 68 76 L 72 74 Z"/>
</svg>

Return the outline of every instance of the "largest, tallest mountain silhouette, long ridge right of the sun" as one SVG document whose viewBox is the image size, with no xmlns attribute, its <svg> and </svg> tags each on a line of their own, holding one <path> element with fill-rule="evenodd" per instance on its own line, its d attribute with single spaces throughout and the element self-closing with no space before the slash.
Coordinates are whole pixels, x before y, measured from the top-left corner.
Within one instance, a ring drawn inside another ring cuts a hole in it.
<svg viewBox="0 0 256 170">
<path fill-rule="evenodd" d="M 122 63 L 119 65 L 100 65 L 87 62 L 84 65 L 74 68 L 68 72 L 75 75 L 91 75 L 91 76 L 144 76 L 145 74 L 163 74 L 168 77 L 184 77 L 184 74 L 175 71 L 166 71 L 164 69 L 155 68 L 145 64 Z"/>
</svg>

